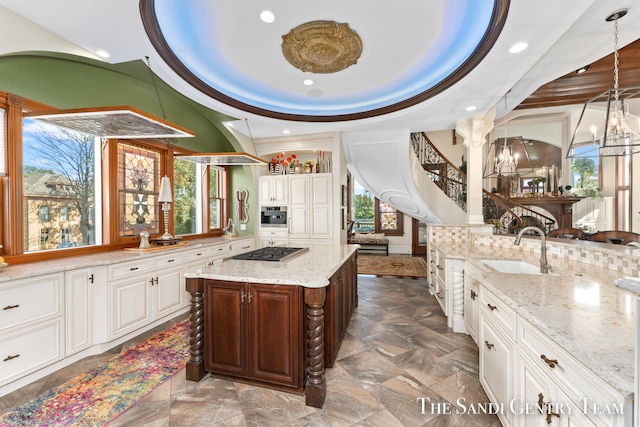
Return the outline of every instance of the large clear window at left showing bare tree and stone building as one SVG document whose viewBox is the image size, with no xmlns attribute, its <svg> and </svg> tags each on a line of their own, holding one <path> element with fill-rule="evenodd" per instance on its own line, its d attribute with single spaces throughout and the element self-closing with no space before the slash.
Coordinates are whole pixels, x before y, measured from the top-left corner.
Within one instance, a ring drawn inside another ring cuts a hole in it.
<svg viewBox="0 0 640 427">
<path fill-rule="evenodd" d="M 30 119 L 23 121 L 22 135 L 24 251 L 62 243 L 57 231 L 41 228 L 55 221 L 66 223 L 69 241 L 95 245 L 95 138 Z"/>
</svg>

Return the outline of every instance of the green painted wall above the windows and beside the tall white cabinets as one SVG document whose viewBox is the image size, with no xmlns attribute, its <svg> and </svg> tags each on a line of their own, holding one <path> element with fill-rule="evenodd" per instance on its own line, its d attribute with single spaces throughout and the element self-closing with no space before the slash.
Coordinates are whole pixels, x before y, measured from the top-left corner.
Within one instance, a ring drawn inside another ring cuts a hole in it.
<svg viewBox="0 0 640 427">
<path fill-rule="evenodd" d="M 153 64 L 151 64 L 153 67 Z M 155 77 L 166 120 L 192 130 L 194 138 L 179 138 L 177 145 L 197 152 L 242 151 L 236 138 L 222 125 L 232 117 L 206 108 L 173 90 Z M 10 92 L 56 108 L 91 108 L 128 105 L 164 118 L 149 67 L 144 61 L 107 64 L 88 58 L 30 52 L 0 56 L 0 91 Z M 231 213 L 235 190 L 249 191 L 249 223 L 240 235 L 252 235 L 255 189 L 250 167 L 231 167 Z"/>
</svg>

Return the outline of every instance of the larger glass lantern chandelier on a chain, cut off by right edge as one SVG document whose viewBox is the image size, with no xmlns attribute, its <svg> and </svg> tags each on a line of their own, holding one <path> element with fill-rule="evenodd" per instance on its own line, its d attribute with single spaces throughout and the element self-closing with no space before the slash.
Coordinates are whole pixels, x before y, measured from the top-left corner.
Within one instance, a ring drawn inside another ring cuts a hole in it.
<svg viewBox="0 0 640 427">
<path fill-rule="evenodd" d="M 626 156 L 640 147 L 639 124 L 637 120 L 630 119 L 629 112 L 629 106 L 634 102 L 632 99 L 640 96 L 640 87 L 621 88 L 618 84 L 618 19 L 626 14 L 627 9 L 622 9 L 606 18 L 607 22 L 613 21 L 614 28 L 613 88 L 585 102 L 567 158 Z M 604 123 L 597 126 L 595 118 L 600 117 L 601 120 L 603 110 Z"/>
</svg>

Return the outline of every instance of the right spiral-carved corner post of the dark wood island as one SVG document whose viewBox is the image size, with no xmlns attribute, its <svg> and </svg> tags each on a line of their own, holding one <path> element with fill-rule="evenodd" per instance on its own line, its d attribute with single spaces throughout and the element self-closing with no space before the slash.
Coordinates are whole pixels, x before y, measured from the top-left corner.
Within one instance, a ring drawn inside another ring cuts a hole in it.
<svg viewBox="0 0 640 427">
<path fill-rule="evenodd" d="M 327 395 L 327 383 L 324 376 L 324 302 L 326 296 L 325 288 L 304 289 L 309 350 L 304 394 L 307 406 L 315 408 L 322 408 Z"/>
</svg>

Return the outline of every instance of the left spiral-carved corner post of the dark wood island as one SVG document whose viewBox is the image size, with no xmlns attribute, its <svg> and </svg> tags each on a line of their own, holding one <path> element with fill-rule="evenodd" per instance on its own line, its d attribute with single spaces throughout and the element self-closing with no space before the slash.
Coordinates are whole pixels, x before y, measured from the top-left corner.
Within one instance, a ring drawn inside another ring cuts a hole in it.
<svg viewBox="0 0 640 427">
<path fill-rule="evenodd" d="M 204 279 L 187 279 L 187 292 L 191 294 L 189 315 L 189 361 L 187 379 L 200 381 L 204 375 Z"/>
</svg>

